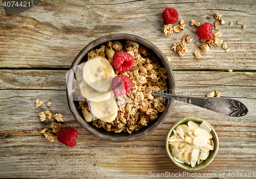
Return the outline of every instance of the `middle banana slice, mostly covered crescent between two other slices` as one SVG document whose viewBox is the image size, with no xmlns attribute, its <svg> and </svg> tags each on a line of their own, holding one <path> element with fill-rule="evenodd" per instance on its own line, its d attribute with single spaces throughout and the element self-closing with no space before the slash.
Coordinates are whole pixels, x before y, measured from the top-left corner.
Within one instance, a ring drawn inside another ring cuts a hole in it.
<svg viewBox="0 0 256 179">
<path fill-rule="evenodd" d="M 114 96 L 112 91 L 96 91 L 91 86 L 89 86 L 84 80 L 82 80 L 80 84 L 80 90 L 83 97 L 94 102 L 108 100 Z"/>
</svg>

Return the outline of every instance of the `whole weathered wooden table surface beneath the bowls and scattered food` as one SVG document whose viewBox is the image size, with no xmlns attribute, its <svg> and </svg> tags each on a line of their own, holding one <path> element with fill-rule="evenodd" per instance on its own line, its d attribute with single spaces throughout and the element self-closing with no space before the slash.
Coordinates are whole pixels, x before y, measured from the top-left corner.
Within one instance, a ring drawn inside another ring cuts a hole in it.
<svg viewBox="0 0 256 179">
<path fill-rule="evenodd" d="M 186 24 L 184 31 L 167 37 L 163 34 L 165 8 L 178 11 L 179 21 L 183 19 Z M 172 177 L 176 173 L 184 174 L 179 178 L 198 178 L 196 173 L 201 178 L 256 178 L 255 10 L 255 2 L 249 0 L 42 0 L 27 11 L 6 15 L 1 5 L 0 177 L 167 178 L 160 175 L 167 172 L 168 178 L 178 178 Z M 195 45 L 199 38 L 190 21 L 213 24 L 216 12 L 223 15 L 225 23 L 218 24 L 220 39 L 230 51 L 214 46 L 204 53 L 200 49 L 203 43 Z M 246 29 L 236 24 L 238 21 Z M 92 136 L 69 110 L 65 74 L 84 46 L 113 33 L 138 35 L 170 57 L 177 94 L 206 96 L 217 90 L 222 97 L 242 101 L 250 113 L 228 117 L 175 101 L 159 129 L 143 139 L 111 143 Z M 180 43 L 185 34 L 194 40 L 186 43 L 186 55 L 180 57 L 171 47 Z M 196 49 L 201 53 L 199 59 L 194 55 Z M 35 108 L 37 98 L 44 103 L 39 108 Z M 50 108 L 46 106 L 48 101 Z M 40 122 L 38 117 L 46 109 L 62 114 L 63 129 L 74 127 L 78 131 L 74 148 L 57 140 L 49 142 L 39 133 L 50 128 L 49 120 Z M 214 126 L 220 140 L 214 161 L 197 172 L 185 173 L 170 161 L 165 150 L 168 130 L 184 117 L 205 119 Z"/>
</svg>

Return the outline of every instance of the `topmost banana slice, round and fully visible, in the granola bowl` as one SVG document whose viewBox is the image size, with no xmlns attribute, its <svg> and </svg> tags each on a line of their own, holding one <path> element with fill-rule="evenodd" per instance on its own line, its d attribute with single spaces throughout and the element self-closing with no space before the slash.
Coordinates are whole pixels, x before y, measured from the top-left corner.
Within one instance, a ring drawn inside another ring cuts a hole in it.
<svg viewBox="0 0 256 179">
<path fill-rule="evenodd" d="M 97 56 L 84 64 L 83 79 L 97 91 L 110 91 L 111 81 L 114 77 L 114 69 L 103 57 Z"/>
</svg>

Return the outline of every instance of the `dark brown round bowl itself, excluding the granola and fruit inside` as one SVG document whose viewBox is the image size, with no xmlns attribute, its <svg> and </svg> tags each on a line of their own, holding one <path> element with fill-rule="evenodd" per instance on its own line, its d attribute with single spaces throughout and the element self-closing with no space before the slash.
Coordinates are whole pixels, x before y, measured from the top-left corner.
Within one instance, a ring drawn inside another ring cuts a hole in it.
<svg viewBox="0 0 256 179">
<path fill-rule="evenodd" d="M 69 108 L 74 115 L 75 119 L 77 122 L 84 128 L 86 129 L 89 133 L 94 135 L 95 137 L 105 140 L 105 141 L 110 141 L 110 142 L 131 142 L 131 141 L 136 141 L 139 140 L 143 137 L 146 137 L 147 135 L 153 133 L 156 131 L 163 123 L 163 121 L 166 119 L 167 115 L 170 112 L 170 109 L 173 106 L 173 99 L 166 101 L 166 107 L 165 110 L 162 112 L 161 116 L 155 119 L 154 121 L 151 121 L 147 124 L 147 126 L 142 127 L 142 129 L 139 129 L 137 131 L 133 131 L 131 134 L 129 133 L 114 133 L 114 132 L 107 132 L 102 128 L 98 128 L 94 125 L 92 125 L 91 122 L 87 122 L 81 113 L 81 110 L 79 109 L 79 104 L 78 101 L 74 101 L 72 97 L 72 89 L 73 89 L 73 76 L 74 76 L 74 71 L 75 67 L 81 62 L 84 61 L 83 57 L 86 56 L 88 52 L 90 52 L 91 49 L 94 49 L 98 45 L 102 43 L 106 43 L 108 41 L 113 41 L 113 40 L 119 40 L 119 41 L 124 41 L 124 40 L 132 40 L 135 41 L 139 44 L 142 44 L 143 46 L 149 48 L 156 54 L 156 56 L 161 60 L 162 66 L 166 69 L 167 74 L 168 74 L 168 83 L 167 87 L 170 90 L 170 93 L 172 94 L 175 90 L 175 81 L 174 81 L 174 74 L 172 67 L 170 67 L 169 62 L 166 60 L 165 56 L 163 53 L 158 49 L 153 43 L 135 36 L 135 35 L 130 35 L 130 34 L 111 34 L 111 35 L 106 35 L 103 37 L 100 37 L 91 43 L 89 43 L 86 47 L 84 47 L 80 53 L 76 56 L 75 60 L 73 61 L 69 72 L 67 73 L 67 98 L 68 98 L 68 104 Z"/>
</svg>

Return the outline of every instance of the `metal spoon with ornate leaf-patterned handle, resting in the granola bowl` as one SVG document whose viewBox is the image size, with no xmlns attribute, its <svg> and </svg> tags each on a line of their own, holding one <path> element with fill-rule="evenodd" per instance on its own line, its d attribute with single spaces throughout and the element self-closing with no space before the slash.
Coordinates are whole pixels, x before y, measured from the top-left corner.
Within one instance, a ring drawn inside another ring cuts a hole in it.
<svg viewBox="0 0 256 179">
<path fill-rule="evenodd" d="M 184 103 L 196 105 L 231 117 L 241 117 L 249 113 L 249 109 L 236 99 L 224 97 L 186 97 L 153 90 L 152 94 L 169 99 L 180 100 Z"/>
</svg>

